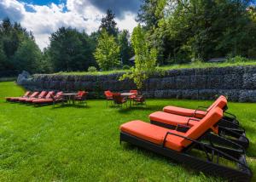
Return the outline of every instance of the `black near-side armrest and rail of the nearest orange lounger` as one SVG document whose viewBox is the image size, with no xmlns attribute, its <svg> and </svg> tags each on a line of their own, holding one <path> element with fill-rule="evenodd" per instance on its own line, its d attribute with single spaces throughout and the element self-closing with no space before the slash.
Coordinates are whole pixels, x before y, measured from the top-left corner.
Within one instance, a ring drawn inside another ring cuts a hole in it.
<svg viewBox="0 0 256 182">
<path fill-rule="evenodd" d="M 197 145 L 200 145 L 201 148 L 202 148 L 202 150 L 205 151 L 205 153 L 206 153 L 206 155 L 207 155 L 207 159 L 210 160 L 210 161 L 211 161 L 211 157 L 210 157 L 210 156 L 208 155 L 208 153 L 207 153 L 207 148 L 210 149 L 210 150 L 212 150 L 212 154 L 214 154 L 214 153 L 216 152 L 216 153 L 220 154 L 221 156 L 226 157 L 227 159 L 230 159 L 230 160 L 232 160 L 232 161 L 234 161 L 234 162 L 237 162 L 237 163 L 241 164 L 241 166 L 247 168 L 247 169 L 251 172 L 251 169 L 250 169 L 247 165 L 245 165 L 244 163 L 242 163 L 242 162 L 240 162 L 239 160 L 237 160 L 234 156 L 230 156 L 229 154 L 225 153 L 224 151 L 220 151 L 220 150 L 214 148 L 214 145 L 208 145 L 208 144 L 206 144 L 206 143 L 202 143 L 202 142 L 200 142 L 200 141 L 198 141 L 198 140 L 191 139 L 191 138 L 189 138 L 189 137 L 185 137 L 185 136 L 180 135 L 180 134 L 174 134 L 174 133 L 172 133 L 172 132 L 166 132 L 166 136 L 165 136 L 164 141 L 163 141 L 163 144 L 162 144 L 162 147 L 163 147 L 163 148 L 165 147 L 166 138 L 167 138 L 167 136 L 168 136 L 169 134 L 175 135 L 175 136 L 177 136 L 177 137 L 181 137 L 181 138 L 183 138 L 183 139 L 187 139 L 187 140 L 189 140 L 189 141 L 191 141 L 191 142 L 194 142 L 194 143 L 197 144 Z"/>
</svg>

